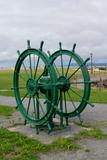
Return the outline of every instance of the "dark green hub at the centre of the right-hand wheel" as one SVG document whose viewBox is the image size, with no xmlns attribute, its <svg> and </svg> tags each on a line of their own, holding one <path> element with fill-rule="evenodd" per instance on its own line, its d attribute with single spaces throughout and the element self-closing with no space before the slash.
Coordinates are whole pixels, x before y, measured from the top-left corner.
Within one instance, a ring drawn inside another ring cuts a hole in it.
<svg viewBox="0 0 107 160">
<path fill-rule="evenodd" d="M 62 91 L 68 91 L 70 88 L 70 81 L 65 76 L 60 76 L 58 78 L 58 89 Z"/>
</svg>

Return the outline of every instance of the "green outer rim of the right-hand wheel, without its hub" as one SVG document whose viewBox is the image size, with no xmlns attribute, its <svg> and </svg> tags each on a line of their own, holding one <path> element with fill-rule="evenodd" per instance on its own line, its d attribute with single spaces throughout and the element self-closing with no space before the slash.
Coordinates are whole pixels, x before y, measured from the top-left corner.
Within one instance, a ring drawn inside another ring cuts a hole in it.
<svg viewBox="0 0 107 160">
<path fill-rule="evenodd" d="M 55 53 L 53 53 L 50 56 L 51 63 L 54 64 L 54 60 L 57 59 L 61 55 L 68 55 L 71 57 L 71 59 L 74 59 L 77 62 L 77 64 L 79 65 L 79 68 L 77 68 L 73 74 L 75 74 L 79 69 L 81 69 L 83 77 L 84 77 L 84 81 L 83 81 L 83 83 L 85 84 L 84 95 L 83 95 L 83 97 L 81 97 L 81 103 L 78 106 L 78 108 L 76 108 L 75 111 L 69 112 L 69 113 L 64 113 L 62 111 L 62 109 L 57 110 L 57 113 L 60 115 L 63 115 L 64 117 L 75 117 L 75 116 L 78 116 L 85 109 L 86 105 L 88 104 L 89 97 L 90 97 L 90 91 L 91 91 L 91 83 L 90 82 L 91 81 L 90 81 L 88 69 L 85 65 L 89 59 L 87 59 L 86 61 L 83 61 L 83 59 L 78 54 L 76 54 L 74 51 L 68 51 L 68 50 L 61 49 L 61 50 L 56 51 Z M 70 59 L 70 61 L 71 61 L 71 59 Z M 70 66 L 70 64 L 69 64 L 69 66 Z M 69 70 L 69 66 L 68 66 L 67 72 Z M 72 78 L 73 74 L 71 75 L 71 77 L 68 77 L 68 79 Z M 65 76 L 67 77 L 67 75 L 65 75 Z M 71 85 L 72 85 L 72 83 L 71 83 Z M 76 93 L 76 94 L 78 94 L 78 93 Z M 78 96 L 80 96 L 80 95 L 78 94 Z"/>
</svg>

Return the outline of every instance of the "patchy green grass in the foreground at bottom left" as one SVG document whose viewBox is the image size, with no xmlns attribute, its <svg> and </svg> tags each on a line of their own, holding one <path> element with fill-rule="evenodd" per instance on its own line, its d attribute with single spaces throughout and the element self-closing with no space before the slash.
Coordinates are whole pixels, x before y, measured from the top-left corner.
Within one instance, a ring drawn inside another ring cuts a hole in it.
<svg viewBox="0 0 107 160">
<path fill-rule="evenodd" d="M 51 144 L 42 144 L 18 132 L 0 128 L 0 159 L 37 160 L 38 153 L 77 150 L 79 145 L 72 138 L 59 138 Z"/>
</svg>

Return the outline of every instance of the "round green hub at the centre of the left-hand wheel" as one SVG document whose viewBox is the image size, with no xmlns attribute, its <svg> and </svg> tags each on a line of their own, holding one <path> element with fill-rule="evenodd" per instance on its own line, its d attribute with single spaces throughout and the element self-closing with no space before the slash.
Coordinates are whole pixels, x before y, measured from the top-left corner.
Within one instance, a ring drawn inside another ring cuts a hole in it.
<svg viewBox="0 0 107 160">
<path fill-rule="evenodd" d="M 34 96 L 37 93 L 38 87 L 36 80 L 29 78 L 26 87 L 30 96 Z"/>
</svg>

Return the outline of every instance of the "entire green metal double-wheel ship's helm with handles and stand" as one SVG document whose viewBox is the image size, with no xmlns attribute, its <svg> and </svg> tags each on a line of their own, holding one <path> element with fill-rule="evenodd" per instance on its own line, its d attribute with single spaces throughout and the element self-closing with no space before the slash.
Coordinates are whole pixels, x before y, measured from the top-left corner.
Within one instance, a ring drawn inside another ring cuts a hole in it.
<svg viewBox="0 0 107 160">
<path fill-rule="evenodd" d="M 26 122 L 31 122 L 35 128 L 36 132 L 39 133 L 39 128 L 43 125 L 48 126 L 48 131 L 50 132 L 54 127 L 53 117 L 56 114 L 60 116 L 60 125 L 63 126 L 63 118 L 66 120 L 66 125 L 68 125 L 68 118 L 78 116 L 81 121 L 80 114 L 85 109 L 87 104 L 90 104 L 90 90 L 91 90 L 91 81 L 88 73 L 88 69 L 86 67 L 86 63 L 89 60 L 87 58 L 85 61 L 75 53 L 76 44 L 73 45 L 72 51 L 62 49 L 61 43 L 59 43 L 59 50 L 54 52 L 49 56 L 42 51 L 43 41 L 40 44 L 40 49 L 35 49 L 30 47 L 30 41 L 28 41 L 28 49 L 24 52 L 20 53 L 18 51 L 19 58 L 15 65 L 14 77 L 13 77 L 13 88 L 14 94 L 17 102 L 17 107 L 22 113 L 25 124 Z M 32 55 L 36 56 L 36 62 L 34 59 L 34 68 L 32 67 Z M 64 74 L 64 64 L 63 64 L 63 56 L 69 57 L 68 66 L 66 69 L 66 73 Z M 61 65 L 61 74 L 58 76 L 58 68 L 55 65 L 55 60 L 60 57 L 60 65 Z M 28 74 L 27 67 L 25 65 L 25 60 L 28 59 L 29 62 L 29 71 Z M 37 78 L 37 70 L 39 68 L 40 60 L 44 63 L 44 68 L 42 74 L 40 74 L 39 78 Z M 70 65 L 72 60 L 74 60 L 79 66 L 70 76 L 68 76 L 68 72 L 70 70 Z M 36 63 L 36 64 L 35 64 Z M 26 77 L 21 76 L 21 67 L 23 66 L 23 70 L 26 74 Z M 34 72 L 33 72 L 34 70 Z M 81 70 L 83 81 L 78 82 L 84 84 L 84 93 L 81 96 L 79 93 L 75 92 L 72 88 L 72 77 Z M 26 83 L 26 94 L 21 95 L 21 89 L 19 79 L 22 78 Z M 81 98 L 81 102 L 78 106 L 75 106 L 74 100 L 72 100 L 70 94 L 68 96 L 71 98 L 72 105 L 74 107 L 73 111 L 67 111 L 67 97 L 66 93 L 69 90 L 72 90 L 74 94 Z M 46 105 L 45 112 L 44 106 L 40 103 L 40 95 L 43 94 L 45 96 L 45 101 L 43 105 Z M 27 106 L 23 103 L 25 99 L 28 100 Z M 33 101 L 34 108 L 34 116 L 30 115 L 30 105 L 31 100 Z M 64 101 L 64 102 L 63 102 Z M 64 106 L 65 105 L 65 111 Z M 58 108 L 58 105 L 60 107 Z M 40 108 L 43 112 L 43 116 L 40 116 Z"/>
</svg>

